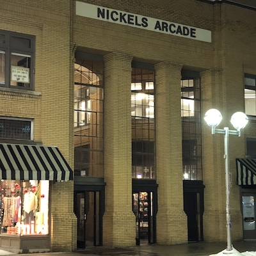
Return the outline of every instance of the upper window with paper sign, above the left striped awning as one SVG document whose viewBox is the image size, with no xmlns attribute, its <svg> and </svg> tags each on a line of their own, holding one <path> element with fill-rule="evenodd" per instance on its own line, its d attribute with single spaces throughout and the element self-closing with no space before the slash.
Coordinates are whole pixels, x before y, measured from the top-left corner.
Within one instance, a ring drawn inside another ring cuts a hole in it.
<svg viewBox="0 0 256 256">
<path fill-rule="evenodd" d="M 33 89 L 35 36 L 0 30 L 0 86 Z"/>
</svg>

